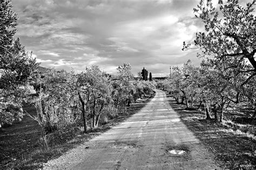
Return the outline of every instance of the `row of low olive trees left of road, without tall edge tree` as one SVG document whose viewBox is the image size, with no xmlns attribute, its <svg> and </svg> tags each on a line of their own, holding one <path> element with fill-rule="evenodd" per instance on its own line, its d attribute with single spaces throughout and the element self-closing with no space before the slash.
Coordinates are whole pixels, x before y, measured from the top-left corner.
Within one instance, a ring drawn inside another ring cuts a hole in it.
<svg viewBox="0 0 256 170">
<path fill-rule="evenodd" d="M 111 77 L 98 66 L 86 67 L 79 74 L 49 69 L 37 80 L 41 88 L 32 101 L 37 109 L 33 118 L 45 132 L 81 121 L 87 132 L 98 127 L 102 114 L 125 112 L 132 101 L 153 92 L 153 83 L 134 80 L 130 64 L 117 70 L 117 76 Z"/>
</svg>

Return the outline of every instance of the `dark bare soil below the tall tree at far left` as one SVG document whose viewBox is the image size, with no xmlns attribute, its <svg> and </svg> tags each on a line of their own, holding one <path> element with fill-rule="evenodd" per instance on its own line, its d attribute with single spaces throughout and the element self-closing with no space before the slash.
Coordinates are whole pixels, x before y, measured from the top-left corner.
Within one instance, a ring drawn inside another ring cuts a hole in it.
<svg viewBox="0 0 256 170">
<path fill-rule="evenodd" d="M 23 109 L 25 112 L 36 113 L 35 107 L 26 106 Z M 37 141 L 41 135 L 41 127 L 28 115 L 14 125 L 4 126 L 0 131 L 0 168 L 25 159 L 25 155 L 38 147 Z"/>
</svg>

